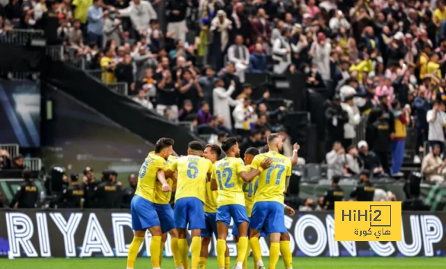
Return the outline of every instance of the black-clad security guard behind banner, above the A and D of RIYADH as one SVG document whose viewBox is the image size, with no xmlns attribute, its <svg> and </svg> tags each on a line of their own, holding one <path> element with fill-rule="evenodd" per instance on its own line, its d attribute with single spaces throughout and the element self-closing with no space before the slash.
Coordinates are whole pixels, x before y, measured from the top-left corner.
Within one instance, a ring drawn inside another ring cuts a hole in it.
<svg viewBox="0 0 446 269">
<path fill-rule="evenodd" d="M 112 174 L 116 172 L 106 170 L 102 173 L 103 182 L 98 185 L 95 194 L 98 208 L 121 208 L 121 185 L 114 183 Z"/>
</svg>

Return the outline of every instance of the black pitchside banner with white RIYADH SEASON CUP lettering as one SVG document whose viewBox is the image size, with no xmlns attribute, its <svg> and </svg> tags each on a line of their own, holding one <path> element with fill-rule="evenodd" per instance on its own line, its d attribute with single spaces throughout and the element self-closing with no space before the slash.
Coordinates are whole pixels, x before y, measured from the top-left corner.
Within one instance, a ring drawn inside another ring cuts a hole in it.
<svg viewBox="0 0 446 269">
<path fill-rule="evenodd" d="M 446 213 L 403 212 L 399 242 L 334 241 L 332 213 L 285 216 L 294 256 L 446 256 Z M 132 218 L 126 210 L 0 210 L 0 257 L 126 257 L 132 241 Z M 231 235 L 231 227 L 229 234 Z M 354 231 L 352 231 L 353 233 Z M 164 256 L 172 256 L 170 236 Z M 215 238 L 209 254 L 215 256 Z M 140 256 L 148 256 L 150 233 Z M 229 236 L 231 256 L 236 243 Z M 262 256 L 269 242 L 261 238 Z M 426 263 L 429 263 L 427 258 Z"/>
</svg>

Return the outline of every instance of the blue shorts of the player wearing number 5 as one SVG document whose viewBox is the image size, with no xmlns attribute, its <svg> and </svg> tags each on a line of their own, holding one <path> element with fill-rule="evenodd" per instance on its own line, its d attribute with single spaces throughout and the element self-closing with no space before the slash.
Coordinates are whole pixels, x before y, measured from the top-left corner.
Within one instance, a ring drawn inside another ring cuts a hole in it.
<svg viewBox="0 0 446 269">
<path fill-rule="evenodd" d="M 206 228 L 203 202 L 198 198 L 185 197 L 176 200 L 174 217 L 176 228 L 189 230 Z"/>
</svg>

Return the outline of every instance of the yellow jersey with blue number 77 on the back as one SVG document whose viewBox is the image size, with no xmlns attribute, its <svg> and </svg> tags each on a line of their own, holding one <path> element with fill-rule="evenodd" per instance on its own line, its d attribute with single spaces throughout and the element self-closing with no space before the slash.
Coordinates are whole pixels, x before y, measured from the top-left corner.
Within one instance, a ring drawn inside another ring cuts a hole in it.
<svg viewBox="0 0 446 269">
<path fill-rule="evenodd" d="M 268 157 L 272 159 L 272 164 L 268 169 L 263 170 L 260 164 Z M 251 167 L 261 171 L 254 203 L 277 201 L 283 204 L 286 177 L 291 176 L 291 160 L 280 153 L 270 151 L 256 155 L 252 160 Z"/>
</svg>

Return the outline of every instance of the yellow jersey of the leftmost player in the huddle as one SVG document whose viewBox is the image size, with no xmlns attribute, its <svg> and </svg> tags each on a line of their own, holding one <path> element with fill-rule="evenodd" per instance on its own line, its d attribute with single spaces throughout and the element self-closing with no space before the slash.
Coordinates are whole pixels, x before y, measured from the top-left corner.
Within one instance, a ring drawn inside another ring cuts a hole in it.
<svg viewBox="0 0 446 269">
<path fill-rule="evenodd" d="M 141 169 L 139 169 L 138 187 L 134 194 L 148 201 L 155 202 L 156 174 L 160 169 L 162 171 L 169 169 L 167 161 L 156 155 L 154 151 L 148 153 L 146 160 L 141 165 Z"/>
</svg>

